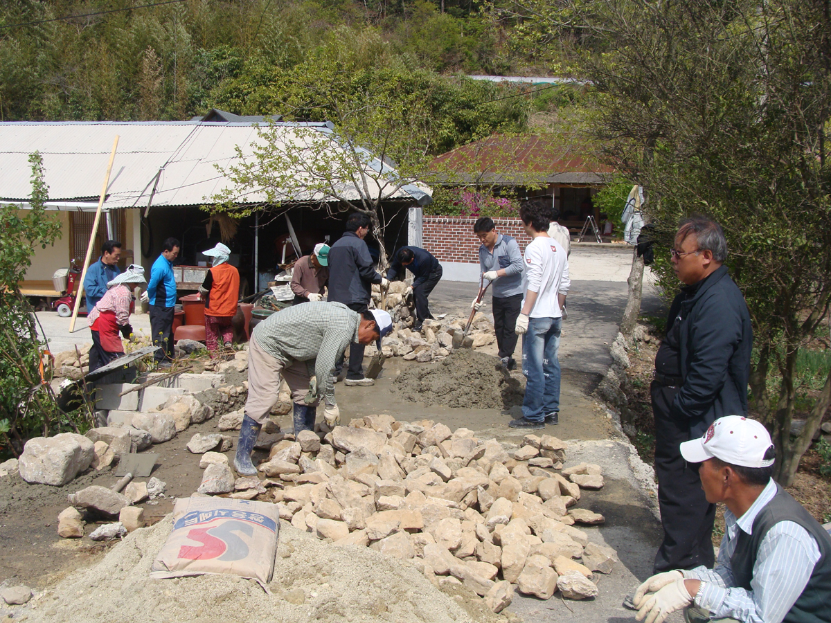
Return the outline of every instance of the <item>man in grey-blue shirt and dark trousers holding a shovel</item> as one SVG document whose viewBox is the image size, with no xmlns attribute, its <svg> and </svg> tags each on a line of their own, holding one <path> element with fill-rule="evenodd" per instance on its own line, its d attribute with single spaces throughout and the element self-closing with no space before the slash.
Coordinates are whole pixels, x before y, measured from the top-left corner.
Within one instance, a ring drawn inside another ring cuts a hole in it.
<svg viewBox="0 0 831 623">
<path fill-rule="evenodd" d="M 479 247 L 479 267 L 482 276 L 494 282 L 490 291 L 493 297 L 494 331 L 496 345 L 499 346 L 499 359 L 508 370 L 514 370 L 514 351 L 517 347 L 516 328 L 519 309 L 525 290 L 522 284 L 523 262 L 519 244 L 514 238 L 496 231 L 494 221 L 489 217 L 477 218 L 473 232 L 482 246 Z M 483 302 L 470 304 L 478 311 Z"/>
</svg>

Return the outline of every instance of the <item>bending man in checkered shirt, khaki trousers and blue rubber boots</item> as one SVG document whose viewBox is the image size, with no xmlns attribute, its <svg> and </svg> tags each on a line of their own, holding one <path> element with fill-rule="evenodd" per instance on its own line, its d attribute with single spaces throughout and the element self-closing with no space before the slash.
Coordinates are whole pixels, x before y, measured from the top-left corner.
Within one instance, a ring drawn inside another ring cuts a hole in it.
<svg viewBox="0 0 831 623">
<path fill-rule="evenodd" d="M 335 402 L 332 369 L 350 344 L 367 345 L 392 329 L 387 312 L 353 312 L 342 303 L 309 302 L 288 307 L 253 331 L 248 350 L 248 400 L 239 430 L 234 468 L 254 475 L 251 451 L 260 429 L 277 401 L 280 382 L 292 390 L 294 434 L 314 429 L 317 405 L 326 405 L 324 418 L 332 426 L 340 421 Z"/>
</svg>

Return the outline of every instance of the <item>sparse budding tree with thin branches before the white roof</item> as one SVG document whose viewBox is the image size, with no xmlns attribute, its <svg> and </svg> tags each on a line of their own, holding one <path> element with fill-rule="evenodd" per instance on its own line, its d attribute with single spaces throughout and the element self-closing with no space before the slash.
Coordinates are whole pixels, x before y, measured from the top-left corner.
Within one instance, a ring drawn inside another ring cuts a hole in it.
<svg viewBox="0 0 831 623">
<path fill-rule="evenodd" d="M 342 66 L 309 73 L 288 93 L 295 110 L 307 114 L 309 101 L 322 102 L 334 128 L 287 127 L 272 122 L 258 129 L 253 156 L 239 147 L 238 162 L 218 167 L 232 185 L 215 195 L 211 212 L 239 217 L 268 206 L 280 213 L 293 204 L 321 205 L 329 213 L 366 213 L 386 265 L 384 204 L 417 184 L 425 170 L 429 122 L 420 98 L 397 91 L 394 82 L 352 83 Z M 302 86 L 301 86 L 302 85 Z M 262 197 L 251 205 L 248 196 Z"/>
</svg>

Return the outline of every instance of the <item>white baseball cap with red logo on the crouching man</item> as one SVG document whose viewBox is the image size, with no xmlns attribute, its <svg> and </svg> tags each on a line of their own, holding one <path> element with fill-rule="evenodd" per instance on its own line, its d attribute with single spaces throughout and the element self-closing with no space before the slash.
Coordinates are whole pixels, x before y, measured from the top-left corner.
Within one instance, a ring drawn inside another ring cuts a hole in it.
<svg viewBox="0 0 831 623">
<path fill-rule="evenodd" d="M 701 439 L 681 444 L 681 456 L 687 463 L 703 463 L 720 459 L 731 465 L 764 468 L 774 464 L 765 459 L 773 442 L 760 422 L 740 415 L 726 415 L 716 419 Z"/>
</svg>

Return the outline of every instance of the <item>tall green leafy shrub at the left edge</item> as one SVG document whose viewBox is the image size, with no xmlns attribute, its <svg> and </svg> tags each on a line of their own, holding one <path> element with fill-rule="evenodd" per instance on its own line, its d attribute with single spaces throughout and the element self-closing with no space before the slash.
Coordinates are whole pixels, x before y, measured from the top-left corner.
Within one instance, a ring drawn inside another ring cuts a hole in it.
<svg viewBox="0 0 831 623">
<path fill-rule="evenodd" d="M 47 215 L 42 159 L 32 163 L 30 209 L 0 205 L 0 450 L 16 456 L 30 437 L 78 430 L 73 415 L 58 409 L 55 396 L 41 374 L 45 343 L 37 335 L 32 306 L 18 288 L 32 264 L 35 248 L 46 248 L 61 235 L 61 224 Z M 46 367 L 48 374 L 48 365 Z"/>
</svg>

